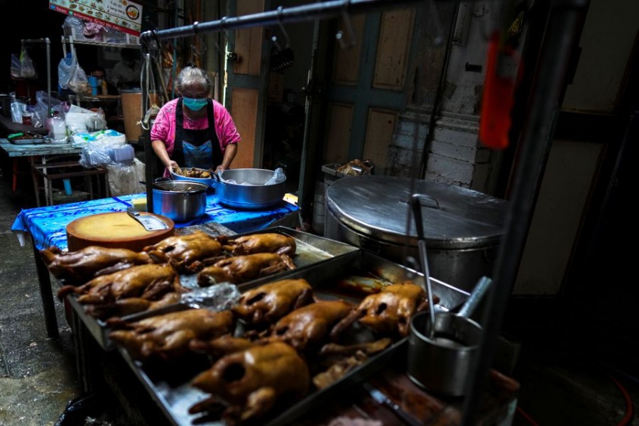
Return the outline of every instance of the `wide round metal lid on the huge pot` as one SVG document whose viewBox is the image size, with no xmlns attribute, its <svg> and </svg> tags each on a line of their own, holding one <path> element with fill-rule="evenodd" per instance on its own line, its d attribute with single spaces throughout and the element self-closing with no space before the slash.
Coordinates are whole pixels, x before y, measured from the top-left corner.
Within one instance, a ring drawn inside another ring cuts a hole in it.
<svg viewBox="0 0 639 426">
<path fill-rule="evenodd" d="M 409 216 L 410 180 L 389 176 L 349 176 L 327 188 L 326 205 L 344 226 L 391 244 L 417 246 L 417 231 Z M 427 246 L 471 249 L 497 244 L 503 234 L 508 202 L 464 187 L 415 180 L 422 197 Z M 406 239 L 406 222 L 408 241 Z"/>
</svg>

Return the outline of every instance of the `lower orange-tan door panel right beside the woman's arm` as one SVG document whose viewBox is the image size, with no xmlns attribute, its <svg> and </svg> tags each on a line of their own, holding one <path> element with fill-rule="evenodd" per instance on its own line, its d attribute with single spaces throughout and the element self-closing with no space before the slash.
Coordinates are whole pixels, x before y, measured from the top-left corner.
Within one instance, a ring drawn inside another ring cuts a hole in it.
<svg viewBox="0 0 639 426">
<path fill-rule="evenodd" d="M 233 121 L 242 138 L 239 143 L 237 156 L 233 161 L 233 168 L 253 168 L 253 156 L 255 146 L 256 117 L 258 114 L 258 102 L 260 93 L 256 89 L 244 89 L 236 87 L 233 90 Z"/>
</svg>

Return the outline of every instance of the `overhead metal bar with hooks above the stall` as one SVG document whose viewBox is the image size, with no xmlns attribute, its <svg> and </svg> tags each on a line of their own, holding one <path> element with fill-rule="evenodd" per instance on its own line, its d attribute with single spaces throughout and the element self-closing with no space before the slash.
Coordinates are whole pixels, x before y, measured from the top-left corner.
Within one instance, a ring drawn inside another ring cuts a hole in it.
<svg viewBox="0 0 639 426">
<path fill-rule="evenodd" d="M 253 13 L 252 15 L 224 16 L 217 21 L 196 22 L 192 25 L 169 28 L 160 31 L 145 31 L 140 36 L 140 43 L 146 48 L 153 48 L 154 41 L 167 38 L 180 38 L 211 33 L 213 31 L 239 30 L 256 26 L 281 25 L 284 23 L 313 21 L 315 19 L 334 18 L 343 14 L 368 13 L 383 9 L 400 9 L 423 0 L 337 0 L 305 4 L 274 11 Z"/>
</svg>

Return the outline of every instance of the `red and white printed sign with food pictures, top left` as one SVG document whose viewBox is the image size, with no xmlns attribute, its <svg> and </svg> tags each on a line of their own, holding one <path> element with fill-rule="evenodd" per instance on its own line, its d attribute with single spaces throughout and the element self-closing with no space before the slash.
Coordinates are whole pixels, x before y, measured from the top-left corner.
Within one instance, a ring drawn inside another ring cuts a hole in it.
<svg viewBox="0 0 639 426">
<path fill-rule="evenodd" d="M 49 0 L 49 9 L 131 35 L 142 29 L 142 6 L 129 0 Z"/>
</svg>

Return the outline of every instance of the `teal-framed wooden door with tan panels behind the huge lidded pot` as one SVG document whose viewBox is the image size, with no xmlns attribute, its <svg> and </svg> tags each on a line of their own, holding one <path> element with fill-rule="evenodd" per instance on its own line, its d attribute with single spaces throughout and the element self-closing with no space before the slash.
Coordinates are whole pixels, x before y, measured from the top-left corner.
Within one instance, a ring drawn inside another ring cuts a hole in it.
<svg viewBox="0 0 639 426">
<path fill-rule="evenodd" d="M 414 9 L 351 17 L 355 44 L 334 48 L 328 89 L 324 163 L 373 160 L 386 167 L 397 114 L 405 108 Z M 341 23 L 344 34 L 347 25 Z"/>
</svg>

